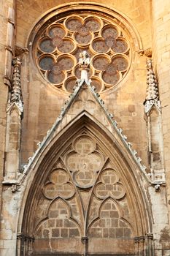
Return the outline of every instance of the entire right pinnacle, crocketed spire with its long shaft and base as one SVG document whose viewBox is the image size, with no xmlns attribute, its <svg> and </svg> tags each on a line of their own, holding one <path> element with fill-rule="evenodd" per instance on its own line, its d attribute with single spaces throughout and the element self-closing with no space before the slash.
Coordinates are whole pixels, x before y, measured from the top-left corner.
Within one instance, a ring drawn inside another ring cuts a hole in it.
<svg viewBox="0 0 170 256">
<path fill-rule="evenodd" d="M 147 60 L 147 92 L 144 101 L 145 120 L 147 122 L 148 157 L 150 161 L 151 184 L 155 192 L 159 192 L 165 185 L 163 167 L 163 145 L 161 131 L 161 102 L 158 94 L 158 83 L 152 69 L 152 59 Z"/>
</svg>

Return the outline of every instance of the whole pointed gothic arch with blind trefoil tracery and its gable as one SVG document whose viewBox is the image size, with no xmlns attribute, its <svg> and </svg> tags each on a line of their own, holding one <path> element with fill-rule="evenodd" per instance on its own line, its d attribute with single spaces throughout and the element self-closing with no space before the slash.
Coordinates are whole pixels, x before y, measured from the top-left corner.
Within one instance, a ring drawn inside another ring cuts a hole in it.
<svg viewBox="0 0 170 256">
<path fill-rule="evenodd" d="M 20 255 L 135 255 L 152 229 L 144 171 L 90 84 L 66 105 L 25 170 Z"/>
</svg>

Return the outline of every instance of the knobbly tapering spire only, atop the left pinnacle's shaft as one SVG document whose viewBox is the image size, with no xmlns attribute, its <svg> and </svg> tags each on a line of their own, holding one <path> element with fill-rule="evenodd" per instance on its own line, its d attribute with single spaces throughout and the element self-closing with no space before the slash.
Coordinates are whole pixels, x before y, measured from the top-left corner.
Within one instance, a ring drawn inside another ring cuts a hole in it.
<svg viewBox="0 0 170 256">
<path fill-rule="evenodd" d="M 13 69 L 13 75 L 12 75 L 12 91 L 11 91 L 11 97 L 9 99 L 7 110 L 9 110 L 13 104 L 17 105 L 18 109 L 20 110 L 20 113 L 23 112 L 23 98 L 20 88 L 20 65 L 21 61 L 19 58 L 14 58 L 12 60 L 12 65 L 14 67 Z"/>
</svg>

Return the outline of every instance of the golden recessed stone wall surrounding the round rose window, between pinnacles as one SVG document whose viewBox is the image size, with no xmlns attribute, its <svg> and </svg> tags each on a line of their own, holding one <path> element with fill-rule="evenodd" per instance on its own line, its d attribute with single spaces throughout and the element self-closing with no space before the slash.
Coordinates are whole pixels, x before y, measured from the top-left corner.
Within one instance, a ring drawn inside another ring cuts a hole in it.
<svg viewBox="0 0 170 256">
<path fill-rule="evenodd" d="M 105 4 L 105 1 L 94 1 Z M 66 1 L 17 1 L 17 42 L 20 47 L 26 47 L 28 35 L 36 22 L 48 12 Z M 114 8 L 126 15 L 136 26 L 142 38 L 143 48 L 151 47 L 150 1 L 110 1 L 107 7 Z M 142 15 L 141 15 L 142 14 Z M 133 49 L 135 51 L 135 49 Z M 146 59 L 133 52 L 134 59 L 128 75 L 119 89 L 110 89 L 102 93 L 107 108 L 114 113 L 118 125 L 123 128 L 128 140 L 147 165 L 146 126 L 143 114 L 146 83 Z M 36 150 L 36 143 L 42 140 L 47 129 L 51 127 L 64 100 L 68 94 L 47 84 L 41 78 L 31 60 L 31 53 L 23 57 L 22 87 L 25 104 L 23 118 L 22 162 L 27 162 Z"/>
</svg>

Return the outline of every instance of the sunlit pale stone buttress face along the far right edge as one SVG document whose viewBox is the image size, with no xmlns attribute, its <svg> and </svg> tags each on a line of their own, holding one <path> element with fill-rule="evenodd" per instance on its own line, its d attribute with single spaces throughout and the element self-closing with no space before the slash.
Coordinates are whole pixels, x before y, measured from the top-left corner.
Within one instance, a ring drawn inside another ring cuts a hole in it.
<svg viewBox="0 0 170 256">
<path fill-rule="evenodd" d="M 159 92 L 162 105 L 162 129 L 164 163 L 166 170 L 166 192 L 168 207 L 170 206 L 170 3 L 166 1 L 152 1 L 152 48 L 155 70 L 158 75 Z M 170 207 L 169 207 L 170 210 Z M 170 211 L 169 211 L 170 221 Z M 169 232 L 164 238 L 169 239 Z"/>
</svg>

